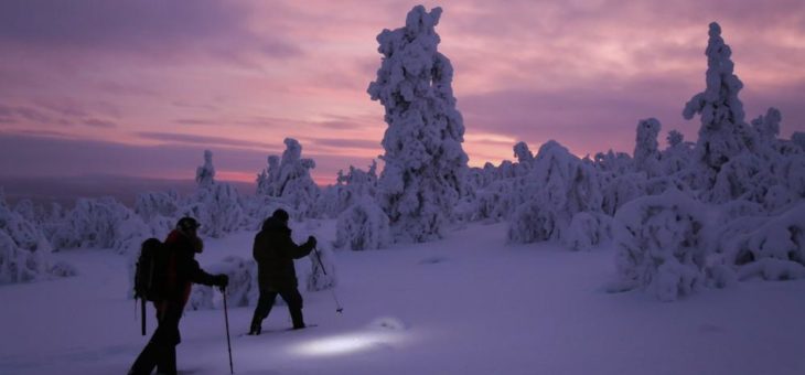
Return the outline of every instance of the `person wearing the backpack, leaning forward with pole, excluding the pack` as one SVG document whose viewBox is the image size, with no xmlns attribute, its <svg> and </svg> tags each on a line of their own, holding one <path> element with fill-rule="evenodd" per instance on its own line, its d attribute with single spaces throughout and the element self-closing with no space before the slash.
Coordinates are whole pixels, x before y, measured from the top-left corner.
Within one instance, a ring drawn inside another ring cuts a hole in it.
<svg viewBox="0 0 805 375">
<path fill-rule="evenodd" d="M 181 342 L 179 320 L 190 298 L 191 285 L 203 283 L 223 289 L 229 283 L 226 275 L 213 276 L 198 267 L 195 254 L 203 249 L 203 243 L 196 234 L 198 226 L 195 218 L 182 217 L 164 242 L 164 249 L 169 254 L 164 290 L 161 293 L 163 297 L 153 302 L 159 325 L 131 365 L 129 375 L 151 374 L 154 366 L 159 374 L 176 374 L 176 345 Z"/>
</svg>

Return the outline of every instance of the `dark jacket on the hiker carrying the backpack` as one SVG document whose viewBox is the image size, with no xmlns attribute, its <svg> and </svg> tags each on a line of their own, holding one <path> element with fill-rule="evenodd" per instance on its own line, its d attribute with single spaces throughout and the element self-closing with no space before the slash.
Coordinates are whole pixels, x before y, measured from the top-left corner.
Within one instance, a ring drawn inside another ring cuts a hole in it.
<svg viewBox="0 0 805 375">
<path fill-rule="evenodd" d="M 192 238 L 182 232 L 173 231 L 168 235 L 165 246 L 169 256 L 163 304 L 169 303 L 184 309 L 192 283 L 212 286 L 215 283 L 215 277 L 201 269 L 195 260 L 195 253 L 201 246 L 198 237 Z M 160 309 L 159 303 L 158 309 Z"/>
</svg>

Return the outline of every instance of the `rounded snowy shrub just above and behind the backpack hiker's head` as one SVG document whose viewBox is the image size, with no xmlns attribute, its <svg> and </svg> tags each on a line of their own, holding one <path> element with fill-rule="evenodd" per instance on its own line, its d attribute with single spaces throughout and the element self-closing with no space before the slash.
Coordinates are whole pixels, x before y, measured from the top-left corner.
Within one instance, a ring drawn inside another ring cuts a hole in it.
<svg viewBox="0 0 805 375">
<path fill-rule="evenodd" d="M 237 189 L 228 183 L 197 189 L 182 203 L 179 213 L 195 217 L 201 224 L 198 232 L 213 238 L 238 231 L 248 222 Z"/>
</svg>

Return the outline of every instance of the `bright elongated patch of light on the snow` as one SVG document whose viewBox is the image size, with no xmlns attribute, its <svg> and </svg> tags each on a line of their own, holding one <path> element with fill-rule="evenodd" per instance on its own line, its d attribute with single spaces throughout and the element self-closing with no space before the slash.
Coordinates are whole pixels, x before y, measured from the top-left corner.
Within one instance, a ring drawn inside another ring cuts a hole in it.
<svg viewBox="0 0 805 375">
<path fill-rule="evenodd" d="M 389 334 L 376 332 L 345 333 L 336 336 L 314 339 L 292 347 L 292 351 L 303 355 L 342 355 L 369 351 L 383 347 L 396 341 Z"/>
</svg>

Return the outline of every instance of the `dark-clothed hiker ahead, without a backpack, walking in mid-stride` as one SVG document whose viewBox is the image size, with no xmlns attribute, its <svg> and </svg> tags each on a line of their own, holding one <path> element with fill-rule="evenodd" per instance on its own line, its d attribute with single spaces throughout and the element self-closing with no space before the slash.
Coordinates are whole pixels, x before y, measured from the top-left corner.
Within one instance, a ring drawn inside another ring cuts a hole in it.
<svg viewBox="0 0 805 375">
<path fill-rule="evenodd" d="M 302 294 L 297 287 L 297 270 L 293 259 L 299 259 L 315 247 L 315 237 L 308 237 L 308 242 L 297 245 L 291 239 L 291 229 L 288 228 L 288 213 L 277 210 L 271 217 L 262 223 L 262 229 L 255 236 L 253 254 L 257 260 L 257 280 L 260 299 L 255 308 L 249 334 L 260 334 L 262 320 L 271 312 L 277 294 L 288 304 L 293 329 L 304 328 L 302 318 Z"/>
</svg>

